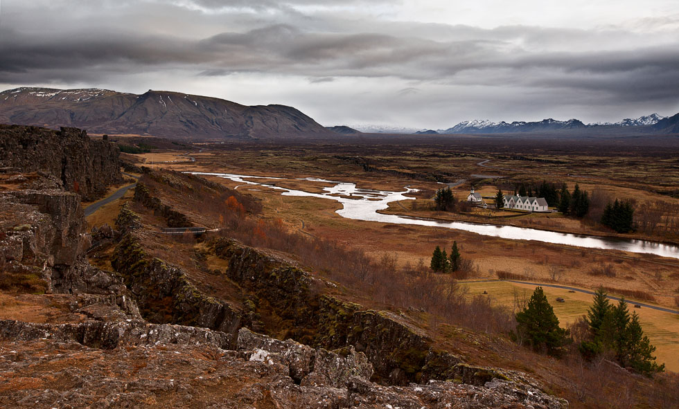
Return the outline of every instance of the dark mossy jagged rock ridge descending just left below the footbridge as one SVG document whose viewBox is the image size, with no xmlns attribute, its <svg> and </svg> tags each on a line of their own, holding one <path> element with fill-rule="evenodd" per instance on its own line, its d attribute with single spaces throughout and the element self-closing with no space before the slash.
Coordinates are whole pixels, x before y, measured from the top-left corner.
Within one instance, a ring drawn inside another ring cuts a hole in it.
<svg viewBox="0 0 679 409">
<path fill-rule="evenodd" d="M 229 334 L 240 327 L 236 309 L 198 291 L 182 269 L 148 255 L 132 233 L 116 246 L 112 266 L 123 276 L 142 315 L 152 322 L 206 327 Z"/>
</svg>

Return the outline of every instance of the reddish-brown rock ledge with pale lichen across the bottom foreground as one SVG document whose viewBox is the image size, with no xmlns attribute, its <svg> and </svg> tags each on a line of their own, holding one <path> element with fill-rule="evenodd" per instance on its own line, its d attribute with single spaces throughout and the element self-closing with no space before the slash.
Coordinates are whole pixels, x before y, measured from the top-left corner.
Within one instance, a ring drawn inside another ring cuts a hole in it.
<svg viewBox="0 0 679 409">
<path fill-rule="evenodd" d="M 3 408 L 567 408 L 527 385 L 381 386 L 365 356 L 241 329 L 0 321 Z M 89 345 L 89 346 L 88 346 Z"/>
</svg>

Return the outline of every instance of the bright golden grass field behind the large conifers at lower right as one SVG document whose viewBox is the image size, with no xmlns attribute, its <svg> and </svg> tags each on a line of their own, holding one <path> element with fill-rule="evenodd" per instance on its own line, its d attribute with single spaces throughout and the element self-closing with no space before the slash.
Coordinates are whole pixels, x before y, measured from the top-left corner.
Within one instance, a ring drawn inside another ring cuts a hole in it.
<svg viewBox="0 0 679 409">
<path fill-rule="evenodd" d="M 517 284 L 506 281 L 491 282 L 462 282 L 468 291 L 468 296 L 484 295 L 484 291 L 491 297 L 495 305 L 502 305 L 509 309 L 515 308 L 516 298 L 527 300 L 537 287 L 529 284 Z M 585 315 L 592 305 L 592 296 L 585 293 L 571 293 L 566 289 L 543 287 L 549 304 L 554 307 L 554 313 L 559 319 L 561 327 L 567 328 L 581 316 Z M 556 298 L 563 298 L 564 302 L 556 302 Z M 612 301 L 615 302 L 615 301 Z M 667 370 L 679 372 L 679 314 L 658 311 L 650 308 L 634 308 L 629 302 L 629 309 L 639 314 L 644 334 L 658 349 L 655 356 L 658 363 L 664 363 Z"/>
</svg>

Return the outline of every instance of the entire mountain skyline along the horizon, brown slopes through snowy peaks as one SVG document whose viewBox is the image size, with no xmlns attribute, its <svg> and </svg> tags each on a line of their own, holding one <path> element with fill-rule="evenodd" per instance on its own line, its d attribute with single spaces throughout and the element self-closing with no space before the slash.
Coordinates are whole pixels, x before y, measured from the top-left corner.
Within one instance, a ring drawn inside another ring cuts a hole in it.
<svg viewBox="0 0 679 409">
<path fill-rule="evenodd" d="M 134 134 L 170 139 L 270 140 L 337 138 L 362 132 L 379 134 L 504 134 L 543 131 L 617 131 L 679 133 L 679 114 L 653 113 L 619 122 L 585 125 L 577 119 L 537 122 L 471 120 L 448 129 L 415 129 L 389 125 L 323 127 L 301 111 L 285 105 L 248 107 L 220 98 L 171 91 L 141 95 L 106 89 L 21 87 L 0 93 L 0 123 L 42 127 L 79 127 L 93 134 Z"/>
</svg>

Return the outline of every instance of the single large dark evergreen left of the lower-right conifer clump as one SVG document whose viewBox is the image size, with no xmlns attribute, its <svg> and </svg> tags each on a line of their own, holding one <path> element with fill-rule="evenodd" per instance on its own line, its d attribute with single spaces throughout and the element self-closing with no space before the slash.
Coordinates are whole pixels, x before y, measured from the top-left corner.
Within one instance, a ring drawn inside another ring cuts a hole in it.
<svg viewBox="0 0 679 409">
<path fill-rule="evenodd" d="M 536 288 L 528 306 L 516 313 L 516 322 L 517 331 L 526 336 L 533 349 L 558 354 L 568 341 L 568 331 L 558 326 L 558 318 L 542 287 Z"/>
</svg>

